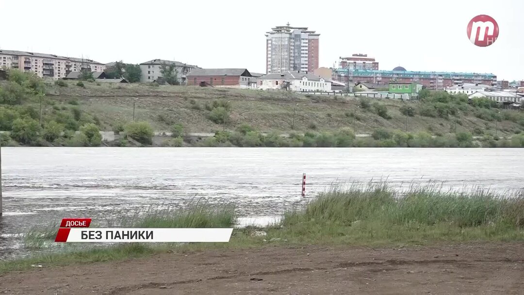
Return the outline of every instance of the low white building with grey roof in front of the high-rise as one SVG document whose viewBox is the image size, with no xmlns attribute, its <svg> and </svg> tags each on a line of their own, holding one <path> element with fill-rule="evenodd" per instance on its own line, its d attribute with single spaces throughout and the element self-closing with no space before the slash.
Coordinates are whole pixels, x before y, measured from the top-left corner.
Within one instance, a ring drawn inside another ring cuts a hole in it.
<svg viewBox="0 0 524 295">
<path fill-rule="evenodd" d="M 258 89 L 285 89 L 298 92 L 331 92 L 331 81 L 308 72 L 286 71 L 257 79 Z"/>
</svg>

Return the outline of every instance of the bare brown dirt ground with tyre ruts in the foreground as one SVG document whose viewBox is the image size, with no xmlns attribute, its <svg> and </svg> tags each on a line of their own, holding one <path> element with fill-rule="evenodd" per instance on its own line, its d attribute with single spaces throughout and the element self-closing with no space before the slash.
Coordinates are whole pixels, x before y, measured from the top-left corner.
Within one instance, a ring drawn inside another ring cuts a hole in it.
<svg viewBox="0 0 524 295">
<path fill-rule="evenodd" d="M 523 294 L 524 245 L 266 247 L 38 268 L 5 294 Z"/>
</svg>

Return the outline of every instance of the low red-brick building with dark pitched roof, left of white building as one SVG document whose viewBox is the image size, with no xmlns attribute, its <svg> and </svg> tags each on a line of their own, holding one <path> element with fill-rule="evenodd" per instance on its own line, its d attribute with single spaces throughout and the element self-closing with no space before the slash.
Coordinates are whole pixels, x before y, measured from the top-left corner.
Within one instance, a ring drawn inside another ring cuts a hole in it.
<svg viewBox="0 0 524 295">
<path fill-rule="evenodd" d="M 247 69 L 193 69 L 188 73 L 188 85 L 256 88 L 256 77 Z"/>
</svg>

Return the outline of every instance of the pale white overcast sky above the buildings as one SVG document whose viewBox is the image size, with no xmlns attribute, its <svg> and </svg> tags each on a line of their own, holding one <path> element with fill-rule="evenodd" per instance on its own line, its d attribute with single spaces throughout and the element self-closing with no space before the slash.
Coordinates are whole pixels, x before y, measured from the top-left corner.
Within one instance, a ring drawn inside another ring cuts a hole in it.
<svg viewBox="0 0 524 295">
<path fill-rule="evenodd" d="M 264 34 L 289 22 L 320 33 L 321 67 L 332 67 L 340 56 L 367 53 L 381 70 L 402 65 L 413 71 L 490 72 L 499 80 L 524 80 L 523 3 L 0 0 L 0 49 L 103 63 L 160 58 L 264 73 Z M 467 23 L 479 14 L 499 25 L 499 37 L 489 47 L 474 46 L 466 36 Z"/>
</svg>

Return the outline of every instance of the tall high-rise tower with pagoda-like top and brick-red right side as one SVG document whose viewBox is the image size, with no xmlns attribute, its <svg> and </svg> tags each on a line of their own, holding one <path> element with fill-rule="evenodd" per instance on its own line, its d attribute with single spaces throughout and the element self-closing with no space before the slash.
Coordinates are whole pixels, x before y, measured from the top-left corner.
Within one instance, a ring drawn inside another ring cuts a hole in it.
<svg viewBox="0 0 524 295">
<path fill-rule="evenodd" d="M 277 26 L 266 33 L 266 73 L 319 68 L 319 36 L 307 27 Z"/>
</svg>

